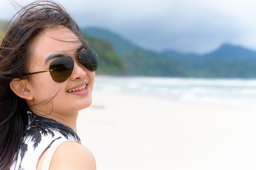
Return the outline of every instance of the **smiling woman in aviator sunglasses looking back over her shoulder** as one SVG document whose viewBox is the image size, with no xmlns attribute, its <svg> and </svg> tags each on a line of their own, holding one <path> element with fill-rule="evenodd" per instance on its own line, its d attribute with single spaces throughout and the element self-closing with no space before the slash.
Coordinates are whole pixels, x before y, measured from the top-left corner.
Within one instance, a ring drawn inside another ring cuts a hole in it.
<svg viewBox="0 0 256 170">
<path fill-rule="evenodd" d="M 97 54 L 62 6 L 36 1 L 0 45 L 0 170 L 95 170 L 76 134 Z"/>
</svg>

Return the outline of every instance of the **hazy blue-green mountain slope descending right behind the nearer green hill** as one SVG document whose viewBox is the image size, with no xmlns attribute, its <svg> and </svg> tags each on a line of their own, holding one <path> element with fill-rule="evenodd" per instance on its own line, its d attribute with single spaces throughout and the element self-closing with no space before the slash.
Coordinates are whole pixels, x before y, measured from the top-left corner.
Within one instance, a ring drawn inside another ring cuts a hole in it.
<svg viewBox="0 0 256 170">
<path fill-rule="evenodd" d="M 185 72 L 165 55 L 144 50 L 121 36 L 99 28 L 83 28 L 90 36 L 109 41 L 122 58 L 129 75 L 186 76 Z"/>
</svg>

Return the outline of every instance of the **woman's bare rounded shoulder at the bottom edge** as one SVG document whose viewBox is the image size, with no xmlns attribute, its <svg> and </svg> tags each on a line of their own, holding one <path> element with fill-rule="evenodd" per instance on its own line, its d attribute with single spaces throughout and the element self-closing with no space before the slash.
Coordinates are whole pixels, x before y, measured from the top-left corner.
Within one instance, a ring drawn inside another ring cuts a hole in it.
<svg viewBox="0 0 256 170">
<path fill-rule="evenodd" d="M 96 170 L 96 163 L 85 146 L 66 141 L 53 154 L 49 170 Z"/>
</svg>

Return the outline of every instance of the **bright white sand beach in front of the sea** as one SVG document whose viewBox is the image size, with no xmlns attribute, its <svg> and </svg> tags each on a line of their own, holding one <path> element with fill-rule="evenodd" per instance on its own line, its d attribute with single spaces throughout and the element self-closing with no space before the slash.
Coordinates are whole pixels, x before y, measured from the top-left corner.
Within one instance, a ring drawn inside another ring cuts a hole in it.
<svg viewBox="0 0 256 170">
<path fill-rule="evenodd" d="M 78 135 L 97 170 L 256 170 L 253 110 L 94 91 Z"/>
</svg>

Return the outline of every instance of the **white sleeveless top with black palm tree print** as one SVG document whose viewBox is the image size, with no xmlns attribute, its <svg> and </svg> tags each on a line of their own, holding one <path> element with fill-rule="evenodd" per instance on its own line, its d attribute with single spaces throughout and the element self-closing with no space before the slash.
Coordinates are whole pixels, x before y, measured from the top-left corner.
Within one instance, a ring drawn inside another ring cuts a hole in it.
<svg viewBox="0 0 256 170">
<path fill-rule="evenodd" d="M 21 138 L 18 157 L 10 170 L 36 170 L 41 154 L 48 149 L 43 161 L 42 170 L 48 170 L 51 158 L 57 147 L 65 141 L 77 141 L 79 136 L 63 123 L 37 116 L 31 111 L 28 114 L 28 124 Z"/>
</svg>

